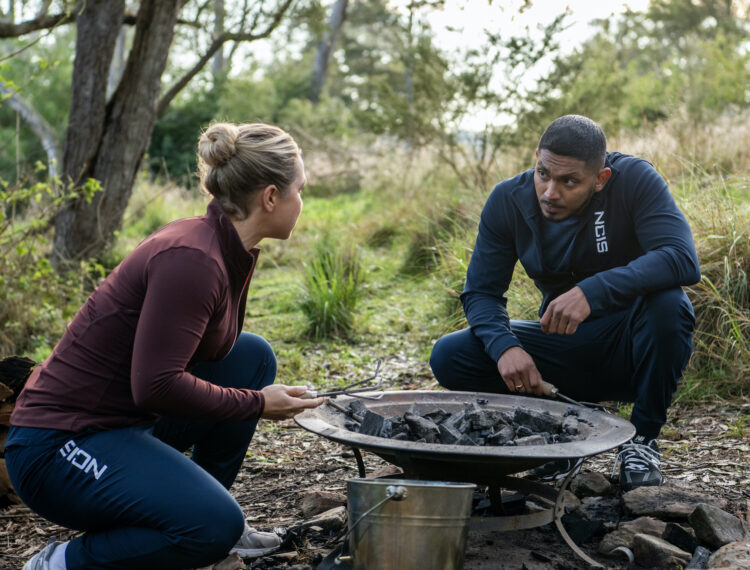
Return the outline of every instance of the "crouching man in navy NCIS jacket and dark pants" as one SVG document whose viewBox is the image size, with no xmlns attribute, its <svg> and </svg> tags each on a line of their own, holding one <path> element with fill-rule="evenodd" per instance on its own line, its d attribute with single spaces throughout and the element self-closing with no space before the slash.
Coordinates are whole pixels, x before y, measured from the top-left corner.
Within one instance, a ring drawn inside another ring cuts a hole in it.
<svg viewBox="0 0 750 570">
<path fill-rule="evenodd" d="M 508 317 L 518 260 L 542 292 L 539 321 Z M 542 135 L 536 167 L 487 200 L 461 294 L 470 326 L 438 340 L 430 366 L 452 390 L 540 394 L 544 379 L 571 398 L 634 402 L 620 484 L 660 485 L 655 440 L 695 323 L 681 286 L 699 279 L 664 179 L 643 159 L 607 152 L 592 120 L 566 115 Z"/>
</svg>

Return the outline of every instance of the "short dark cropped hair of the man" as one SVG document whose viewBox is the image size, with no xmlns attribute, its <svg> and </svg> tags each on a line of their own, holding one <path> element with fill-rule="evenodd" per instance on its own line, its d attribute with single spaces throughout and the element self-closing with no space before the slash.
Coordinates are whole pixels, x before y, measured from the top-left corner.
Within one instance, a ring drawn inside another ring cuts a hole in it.
<svg viewBox="0 0 750 570">
<path fill-rule="evenodd" d="M 588 117 L 564 115 L 544 131 L 538 150 L 577 158 L 598 172 L 604 168 L 607 138 L 601 127 Z"/>
</svg>

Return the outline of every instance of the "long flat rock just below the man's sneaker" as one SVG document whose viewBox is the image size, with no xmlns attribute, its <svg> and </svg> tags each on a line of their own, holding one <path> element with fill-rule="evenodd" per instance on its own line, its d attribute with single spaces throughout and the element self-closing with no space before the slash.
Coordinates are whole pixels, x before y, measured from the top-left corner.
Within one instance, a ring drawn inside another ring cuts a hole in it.
<svg viewBox="0 0 750 570">
<path fill-rule="evenodd" d="M 665 520 L 686 520 L 700 503 L 726 506 L 726 501 L 699 493 L 663 485 L 661 487 L 638 487 L 622 496 L 625 510 L 634 516 L 652 516 Z"/>
</svg>

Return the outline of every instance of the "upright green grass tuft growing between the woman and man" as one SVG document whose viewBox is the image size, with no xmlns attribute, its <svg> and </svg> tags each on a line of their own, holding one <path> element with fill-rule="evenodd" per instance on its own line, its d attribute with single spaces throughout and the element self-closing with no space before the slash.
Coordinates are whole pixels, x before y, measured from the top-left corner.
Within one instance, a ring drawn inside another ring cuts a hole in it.
<svg viewBox="0 0 750 570">
<path fill-rule="evenodd" d="M 363 282 L 359 252 L 322 240 L 305 263 L 301 309 L 307 318 L 307 336 L 320 340 L 349 337 L 354 330 L 354 309 Z"/>
</svg>

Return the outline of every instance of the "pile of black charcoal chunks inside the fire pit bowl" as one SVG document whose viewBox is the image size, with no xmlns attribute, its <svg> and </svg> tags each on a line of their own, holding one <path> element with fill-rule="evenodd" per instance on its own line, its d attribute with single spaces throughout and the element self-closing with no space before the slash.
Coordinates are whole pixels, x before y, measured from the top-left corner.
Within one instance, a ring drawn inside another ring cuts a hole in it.
<svg viewBox="0 0 750 570">
<path fill-rule="evenodd" d="M 545 445 L 585 439 L 592 424 L 569 408 L 562 417 L 526 407 L 512 412 L 487 407 L 477 399 L 454 413 L 438 408 L 420 413 L 412 404 L 402 416 L 384 417 L 352 400 L 345 427 L 363 435 L 449 445 Z"/>
</svg>

